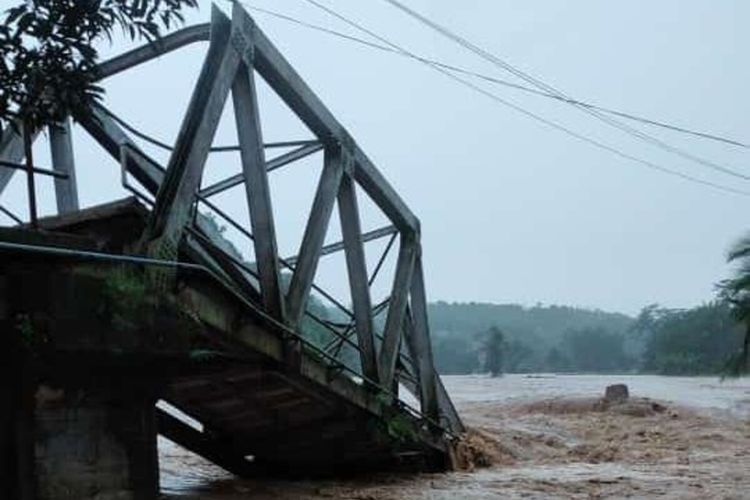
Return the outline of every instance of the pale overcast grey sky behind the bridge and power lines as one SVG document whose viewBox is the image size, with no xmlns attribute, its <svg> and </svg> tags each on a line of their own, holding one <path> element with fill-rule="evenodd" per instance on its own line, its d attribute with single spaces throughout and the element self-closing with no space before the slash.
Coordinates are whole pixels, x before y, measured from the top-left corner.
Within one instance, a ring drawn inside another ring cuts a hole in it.
<svg viewBox="0 0 750 500">
<path fill-rule="evenodd" d="M 320 1 L 409 50 L 513 79 L 382 0 Z M 404 2 L 575 98 L 750 139 L 745 0 Z M 304 0 L 252 3 L 361 36 Z M 208 20 L 209 7 L 202 2 L 190 20 Z M 748 227 L 748 197 L 595 149 L 414 61 L 253 15 L 420 217 L 431 300 L 634 313 L 651 302 L 696 305 L 710 299 L 714 283 L 726 275 L 726 250 Z M 144 131 L 173 141 L 204 52 L 205 46 L 191 47 L 111 79 L 109 106 Z M 750 190 L 750 182 L 644 145 L 565 105 L 482 85 L 629 154 Z M 261 107 L 266 140 L 309 137 L 263 87 Z M 750 173 L 747 150 L 644 130 Z M 234 141 L 227 115 L 216 143 Z M 84 203 L 121 195 L 116 167 L 102 167 L 111 162 L 83 134 L 76 143 Z M 40 155 L 43 148 L 37 145 Z M 286 254 L 296 252 L 312 200 L 320 158 L 313 160 L 273 174 Z M 206 182 L 237 171 L 235 157 L 214 157 Z M 40 189 L 49 194 L 47 183 Z M 219 199 L 247 220 L 241 188 Z M 23 210 L 20 176 L 3 200 Z M 364 219 L 368 229 L 384 220 L 374 211 Z M 336 233 L 332 228 L 328 240 Z M 368 246 L 369 260 L 378 248 L 382 243 Z M 344 272 L 335 258 L 321 267 L 321 280 L 341 297 Z"/>
</svg>

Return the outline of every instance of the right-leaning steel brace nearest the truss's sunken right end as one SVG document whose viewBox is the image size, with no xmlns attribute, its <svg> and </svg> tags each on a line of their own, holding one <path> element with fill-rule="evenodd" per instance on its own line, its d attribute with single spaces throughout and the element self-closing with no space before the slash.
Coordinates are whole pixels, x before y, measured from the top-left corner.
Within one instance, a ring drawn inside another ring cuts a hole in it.
<svg viewBox="0 0 750 500">
<path fill-rule="evenodd" d="M 383 343 L 380 347 L 378 371 L 380 383 L 384 387 L 391 387 L 396 373 L 396 361 L 401 347 L 401 332 L 403 329 L 406 307 L 409 301 L 409 291 L 414 274 L 414 262 L 417 255 L 418 242 L 414 234 L 401 233 L 401 246 L 396 262 L 396 275 L 393 278 L 393 290 L 388 306 L 388 316 L 385 320 Z"/>
</svg>

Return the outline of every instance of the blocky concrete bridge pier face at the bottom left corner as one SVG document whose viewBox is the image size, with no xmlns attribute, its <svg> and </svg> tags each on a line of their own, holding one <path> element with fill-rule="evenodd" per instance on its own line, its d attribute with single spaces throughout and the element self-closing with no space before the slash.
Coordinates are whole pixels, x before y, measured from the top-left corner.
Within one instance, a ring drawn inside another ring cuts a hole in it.
<svg viewBox="0 0 750 500">
<path fill-rule="evenodd" d="M 155 499 L 155 399 L 143 391 L 55 389 L 35 394 L 34 468 L 39 500 Z"/>
</svg>

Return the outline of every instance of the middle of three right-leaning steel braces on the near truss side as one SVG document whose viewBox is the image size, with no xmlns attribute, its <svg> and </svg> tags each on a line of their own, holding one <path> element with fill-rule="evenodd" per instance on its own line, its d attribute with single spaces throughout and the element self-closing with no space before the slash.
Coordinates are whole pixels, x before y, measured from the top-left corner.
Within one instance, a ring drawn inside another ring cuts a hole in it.
<svg viewBox="0 0 750 500">
<path fill-rule="evenodd" d="M 287 293 L 288 323 L 299 325 L 307 307 L 310 289 L 320 261 L 328 223 L 331 220 L 339 185 L 344 174 L 344 156 L 340 145 L 326 147 L 323 172 L 320 174 L 310 217 L 302 237 L 297 265 Z"/>
</svg>

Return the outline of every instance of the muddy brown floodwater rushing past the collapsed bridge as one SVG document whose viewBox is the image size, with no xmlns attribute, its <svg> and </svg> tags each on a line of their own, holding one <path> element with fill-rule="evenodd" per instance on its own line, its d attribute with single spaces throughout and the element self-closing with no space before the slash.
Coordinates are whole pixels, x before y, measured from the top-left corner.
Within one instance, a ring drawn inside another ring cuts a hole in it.
<svg viewBox="0 0 750 500">
<path fill-rule="evenodd" d="M 716 377 L 661 377 L 650 375 L 505 375 L 499 378 L 489 378 L 486 376 L 445 376 L 443 377 L 445 386 L 456 403 L 459 411 L 462 413 L 464 420 L 469 425 L 483 426 L 484 430 L 492 435 L 493 429 L 497 428 L 494 438 L 497 442 L 502 443 L 506 436 L 505 429 L 513 429 L 513 432 L 521 433 L 521 436 L 536 436 L 544 432 L 549 436 L 570 435 L 585 436 L 582 431 L 576 434 L 576 424 L 580 423 L 585 431 L 585 418 L 569 418 L 568 416 L 556 417 L 547 415 L 544 419 L 539 420 L 536 415 L 528 416 L 526 413 L 515 413 L 513 418 L 509 417 L 504 409 L 521 408 L 526 403 L 541 400 L 555 400 L 562 398 L 593 398 L 600 396 L 607 385 L 614 383 L 625 383 L 630 389 L 630 393 L 635 397 L 650 398 L 665 402 L 667 405 L 673 405 L 679 408 L 695 409 L 701 416 L 695 418 L 713 418 L 716 421 L 745 422 L 748 425 L 750 421 L 750 380 L 725 380 L 721 381 Z M 495 413 L 492 413 L 492 412 Z M 515 410 L 514 410 L 515 411 Z M 520 416 L 519 416 L 520 415 Z M 599 419 L 599 416 L 594 418 Z M 675 417 L 676 418 L 676 417 Z M 691 417 L 692 418 L 692 417 Z M 494 420 L 493 420 L 494 419 Z M 567 420 L 566 420 L 567 419 Z M 608 425 L 631 427 L 633 422 L 610 419 Z M 546 426 L 542 432 L 536 429 L 537 421 Z M 594 422 L 600 420 L 593 420 Z M 489 423 L 488 423 L 489 422 Z M 712 420 L 713 422 L 713 420 Z M 493 425 L 495 425 L 493 427 Z M 657 425 L 676 426 L 675 429 L 687 429 L 691 425 L 697 425 L 701 428 L 703 424 L 696 424 L 696 421 L 685 419 L 683 422 L 654 421 L 653 426 Z M 723 424 L 722 424 L 723 425 Z M 734 424 L 731 424 L 734 425 Z M 740 425 L 740 424 L 737 424 Z M 525 427 L 524 427 L 525 426 Z M 665 427 L 665 429 L 667 428 Z M 717 424 L 718 429 L 723 427 Z M 742 432 L 739 428 L 738 432 Z M 665 430 L 664 433 L 668 433 Z M 674 431 L 677 432 L 677 431 Z M 719 433 L 720 434 L 720 433 Z M 627 435 L 627 434 L 626 434 Z M 666 434 L 665 434 L 666 435 Z M 513 441 L 518 436 L 510 436 Z M 750 437 L 750 427 L 745 434 Z M 494 439 L 493 438 L 493 439 Z M 520 439 L 520 438 L 519 438 Z M 550 439 L 545 437 L 545 439 Z M 572 439 L 572 438 L 571 438 Z M 592 438 L 593 439 L 593 438 Z M 718 438 L 717 438 L 718 439 Z M 499 498 L 514 497 L 538 497 L 552 498 L 558 493 L 560 498 L 566 496 L 575 497 L 575 489 L 560 490 L 550 487 L 549 490 L 539 489 L 537 486 L 544 486 L 547 483 L 560 481 L 560 474 L 571 473 L 574 476 L 580 475 L 580 480 L 584 482 L 582 495 L 590 494 L 586 489 L 589 485 L 595 485 L 601 488 L 597 481 L 604 481 L 612 476 L 615 484 L 625 480 L 632 480 L 638 484 L 640 479 L 638 475 L 641 469 L 638 468 L 640 462 L 630 460 L 628 457 L 615 457 L 611 460 L 589 460 L 580 461 L 567 459 L 570 450 L 575 450 L 573 444 L 567 443 L 568 446 L 565 460 L 555 460 L 557 455 L 538 454 L 538 456 L 523 456 L 523 450 L 520 452 L 520 458 L 515 457 L 512 466 L 503 468 L 490 468 L 484 472 L 474 473 L 448 473 L 443 475 L 421 475 L 415 478 L 398 477 L 396 479 L 383 476 L 369 478 L 366 484 L 360 484 L 356 480 L 345 480 L 342 482 L 326 481 L 322 483 L 314 482 L 264 482 L 264 481 L 246 481 L 233 477 L 231 474 L 222 469 L 196 457 L 189 452 L 170 443 L 166 439 L 160 438 L 159 455 L 161 464 L 161 488 L 165 498 L 170 499 L 196 499 L 202 498 L 207 500 L 228 500 L 228 499 L 265 499 L 265 498 L 352 498 L 352 499 L 376 499 L 376 498 L 412 498 L 409 491 L 418 491 L 420 498 Z M 650 445 L 649 445 L 650 446 Z M 656 447 L 657 445 L 653 445 Z M 684 446 L 674 441 L 673 447 Z M 529 445 L 531 449 L 532 445 Z M 502 447 L 501 447 L 502 448 Z M 512 442 L 507 448 L 513 451 Z M 539 448 L 542 450 L 542 448 Z M 637 448 L 633 448 L 636 450 Z M 544 450 L 542 450 L 544 451 Z M 541 452 L 540 452 L 541 453 Z M 741 453 L 741 450 L 740 452 Z M 512 454 L 512 453 L 511 453 Z M 562 455 L 561 455 L 562 456 Z M 666 455 L 665 455 L 666 456 Z M 551 457 L 551 458 L 550 458 Z M 666 459 L 665 459 L 666 460 Z M 671 459 L 670 459 L 671 460 Z M 510 463 L 510 462 L 508 462 Z M 665 462 L 666 463 L 666 462 Z M 667 467 L 667 466 L 665 466 Z M 672 467 L 669 462 L 669 467 Z M 652 468 L 653 469 L 653 468 Z M 672 486 L 666 482 L 671 478 L 671 468 L 661 476 L 651 479 L 642 479 L 643 484 L 650 484 L 649 481 L 655 481 L 654 488 L 663 487 L 669 496 Z M 649 468 L 644 468 L 644 474 L 651 472 Z M 514 476 L 515 474 L 515 476 Z M 545 474 L 550 477 L 545 478 Z M 707 472 L 710 475 L 710 471 Z M 519 476 L 520 475 L 520 476 Z M 667 477 L 669 476 L 669 477 Z M 521 489 L 503 490 L 508 485 L 514 484 L 513 481 L 521 477 L 518 484 L 523 488 L 531 488 L 529 491 Z M 577 476 L 576 476 L 577 477 Z M 576 479 L 574 477 L 574 479 Z M 514 479 L 516 478 L 516 479 Z M 617 479 L 620 478 L 620 479 Z M 625 479 L 622 479 L 625 478 Z M 673 479 L 673 478 L 672 478 Z M 721 479 L 721 478 L 720 478 Z M 724 478 L 725 479 L 725 478 Z M 722 479 L 722 481 L 724 480 Z M 662 481 L 663 480 L 663 481 Z M 744 480 L 744 479 L 742 479 Z M 393 488 L 391 483 L 404 482 L 404 489 L 401 487 Z M 501 482 L 505 485 L 500 485 Z M 609 481 L 609 480 L 607 480 Z M 659 486 L 659 481 L 664 482 L 664 486 Z M 730 481 L 730 479 L 726 479 Z M 382 488 L 378 486 L 382 482 Z M 533 484 L 532 484 L 533 483 Z M 534 486 L 538 483 L 537 486 Z M 679 483 L 679 482 L 678 482 Z M 425 496 L 422 491 L 424 487 L 432 488 L 432 492 Z M 532 486 L 529 486 L 532 484 Z M 571 483 L 574 484 L 574 483 Z M 677 483 L 675 483 L 677 484 Z M 721 484 L 724 484 L 723 482 Z M 728 482 L 726 487 L 732 491 L 733 483 Z M 677 484 L 680 488 L 682 483 Z M 413 488 L 410 490 L 409 488 Z M 536 489 L 535 489 L 536 488 Z M 687 486 L 684 486 L 687 488 Z M 402 493 L 399 493 L 401 491 Z M 502 494 L 499 493 L 502 491 Z M 537 492 L 535 494 L 534 492 Z M 598 491 L 598 490 L 597 490 Z M 619 490 L 618 490 L 619 491 Z M 625 490 L 623 490 L 625 491 Z M 628 490 L 629 491 L 629 490 Z M 635 487 L 636 493 L 639 487 Z M 654 490 L 661 491 L 661 490 Z M 674 490 L 678 491 L 678 490 Z M 679 490 L 690 496 L 689 489 Z M 724 490 L 722 490 L 724 491 Z M 364 492 L 364 493 L 363 493 Z M 570 493 L 570 495 L 568 495 Z M 628 493 L 630 494 L 630 493 Z M 401 496 L 403 495 L 403 496 Z M 457 496 L 458 495 L 458 496 Z M 498 496 L 499 495 L 499 496 Z M 681 495 L 681 493 L 680 493 Z M 635 496 L 638 496 L 637 494 Z M 648 495 L 647 495 L 648 496 Z M 696 496 L 699 498 L 700 496 Z M 740 496 L 741 497 L 741 496 Z"/>
</svg>

